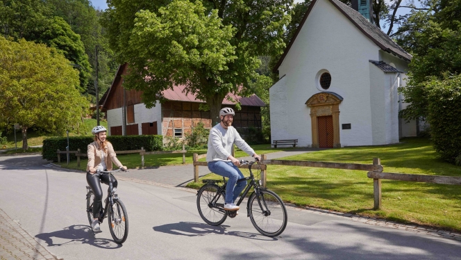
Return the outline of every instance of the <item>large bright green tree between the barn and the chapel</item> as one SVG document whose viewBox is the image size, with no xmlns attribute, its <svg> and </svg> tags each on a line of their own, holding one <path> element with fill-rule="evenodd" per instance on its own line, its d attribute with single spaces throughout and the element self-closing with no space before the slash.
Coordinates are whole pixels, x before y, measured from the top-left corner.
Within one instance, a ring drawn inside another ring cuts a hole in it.
<svg viewBox="0 0 461 260">
<path fill-rule="evenodd" d="M 108 1 L 104 26 L 125 86 L 153 106 L 162 90 L 185 85 L 207 102 L 213 124 L 228 92 L 249 94 L 258 56 L 283 51 L 291 0 Z"/>
</svg>

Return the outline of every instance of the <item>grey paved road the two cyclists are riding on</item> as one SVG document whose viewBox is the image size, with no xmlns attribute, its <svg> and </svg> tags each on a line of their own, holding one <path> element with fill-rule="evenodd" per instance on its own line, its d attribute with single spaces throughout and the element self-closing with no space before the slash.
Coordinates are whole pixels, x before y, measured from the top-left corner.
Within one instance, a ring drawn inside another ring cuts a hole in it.
<svg viewBox="0 0 461 260">
<path fill-rule="evenodd" d="M 461 242 L 289 210 L 285 232 L 258 234 L 240 214 L 205 225 L 195 193 L 119 181 L 130 234 L 112 242 L 106 222 L 94 234 L 85 212 L 85 175 L 42 167 L 37 157 L 0 157 L 0 209 L 59 259 L 460 259 Z M 1 250 L 1 249 L 0 249 Z"/>
</svg>

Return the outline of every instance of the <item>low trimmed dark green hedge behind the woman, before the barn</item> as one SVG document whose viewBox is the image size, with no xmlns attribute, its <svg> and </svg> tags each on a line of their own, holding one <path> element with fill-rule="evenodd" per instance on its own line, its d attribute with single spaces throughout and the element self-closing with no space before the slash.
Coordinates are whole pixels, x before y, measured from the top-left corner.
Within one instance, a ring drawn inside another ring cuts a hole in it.
<svg viewBox="0 0 461 260">
<path fill-rule="evenodd" d="M 107 140 L 112 143 L 115 151 L 137 150 L 144 147 L 147 152 L 161 151 L 163 145 L 162 136 L 108 136 Z M 93 142 L 92 136 L 74 136 L 69 137 L 69 150 L 80 151 L 85 154 L 87 146 Z M 58 161 L 56 150 L 65 151 L 67 147 L 67 138 L 54 137 L 43 140 L 42 157 L 49 161 Z M 61 159 L 65 158 L 65 154 L 61 154 Z M 74 159 L 74 154 L 70 155 Z"/>
</svg>

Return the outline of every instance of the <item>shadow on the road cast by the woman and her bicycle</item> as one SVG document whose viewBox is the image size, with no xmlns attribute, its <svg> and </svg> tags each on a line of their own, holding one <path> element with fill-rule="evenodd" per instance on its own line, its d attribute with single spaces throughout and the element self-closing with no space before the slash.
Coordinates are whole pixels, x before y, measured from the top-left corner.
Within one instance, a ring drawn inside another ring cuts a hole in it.
<svg viewBox="0 0 461 260">
<path fill-rule="evenodd" d="M 115 243 L 114 241 L 106 238 L 96 238 L 94 237 L 94 232 L 90 226 L 86 225 L 72 225 L 70 227 L 65 227 L 62 230 L 54 231 L 50 233 L 37 234 L 35 236 L 42 241 L 45 241 L 48 246 L 61 246 L 65 244 L 89 244 L 99 248 L 105 249 L 116 249 L 121 247 L 121 245 Z M 53 238 L 55 241 L 53 241 Z M 58 241 L 65 241 L 59 243 Z"/>
</svg>

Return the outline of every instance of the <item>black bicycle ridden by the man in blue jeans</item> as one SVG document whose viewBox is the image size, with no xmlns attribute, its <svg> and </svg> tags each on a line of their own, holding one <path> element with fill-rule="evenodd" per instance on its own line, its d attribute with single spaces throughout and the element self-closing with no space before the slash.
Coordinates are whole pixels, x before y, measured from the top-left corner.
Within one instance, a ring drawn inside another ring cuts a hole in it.
<svg viewBox="0 0 461 260">
<path fill-rule="evenodd" d="M 250 177 L 240 179 L 238 181 L 249 181 L 242 197 L 237 202 L 240 206 L 246 194 L 251 187 L 254 187 L 253 193 L 249 196 L 246 202 L 247 217 L 251 223 L 261 234 L 265 236 L 278 236 L 282 234 L 287 227 L 287 209 L 283 204 L 282 199 L 271 190 L 262 188 L 260 177 L 260 168 L 256 174 L 257 178 L 251 172 L 251 166 L 255 163 L 249 161 L 240 161 L 241 165 L 248 164 Z M 258 179 L 258 181 L 255 181 Z M 197 208 L 201 218 L 208 224 L 213 226 L 221 225 L 229 216 L 235 218 L 237 211 L 224 210 L 224 197 L 226 197 L 226 178 L 223 177 L 224 184 L 218 185 L 221 180 L 204 179 L 203 185 L 197 192 Z"/>
</svg>

